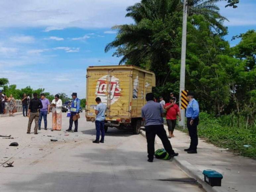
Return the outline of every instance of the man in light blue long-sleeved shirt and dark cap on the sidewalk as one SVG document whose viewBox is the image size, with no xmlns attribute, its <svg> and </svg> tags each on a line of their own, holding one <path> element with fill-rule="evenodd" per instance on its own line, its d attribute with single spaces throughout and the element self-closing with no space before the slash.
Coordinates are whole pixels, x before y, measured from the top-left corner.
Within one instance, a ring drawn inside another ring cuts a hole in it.
<svg viewBox="0 0 256 192">
<path fill-rule="evenodd" d="M 190 146 L 188 149 L 184 149 L 189 154 L 197 153 L 198 137 L 197 137 L 197 125 L 199 122 L 199 105 L 194 99 L 194 93 L 189 92 L 187 94 L 187 100 L 189 101 L 186 110 L 187 128 L 190 136 Z"/>
</svg>

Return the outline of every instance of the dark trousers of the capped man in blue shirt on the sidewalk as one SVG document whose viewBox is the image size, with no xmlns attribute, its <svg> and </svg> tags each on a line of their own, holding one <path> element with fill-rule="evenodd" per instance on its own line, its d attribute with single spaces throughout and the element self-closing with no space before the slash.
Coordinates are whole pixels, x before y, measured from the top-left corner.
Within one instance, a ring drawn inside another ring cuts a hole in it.
<svg viewBox="0 0 256 192">
<path fill-rule="evenodd" d="M 191 140 L 189 149 L 196 150 L 198 145 L 197 125 L 198 125 L 199 119 L 198 118 L 194 119 L 193 120 L 194 122 L 192 125 L 190 125 L 190 120 L 191 118 L 187 118 L 187 128 L 188 128 L 188 133 Z"/>
</svg>

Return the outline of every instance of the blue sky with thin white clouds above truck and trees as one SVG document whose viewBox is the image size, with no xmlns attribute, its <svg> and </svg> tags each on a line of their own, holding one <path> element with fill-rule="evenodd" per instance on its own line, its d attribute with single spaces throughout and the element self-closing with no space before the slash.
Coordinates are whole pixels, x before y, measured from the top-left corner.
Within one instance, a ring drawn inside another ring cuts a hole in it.
<svg viewBox="0 0 256 192">
<path fill-rule="evenodd" d="M 126 8 L 137 0 L 2 0 L 0 2 L 0 77 L 18 88 L 27 85 L 56 94 L 85 95 L 86 68 L 116 65 L 104 47 L 111 26 L 132 21 Z M 237 9 L 218 3 L 233 35 L 256 29 L 256 1 L 241 0 Z M 234 46 L 238 40 L 231 41 Z M 99 62 L 100 61 L 100 62 Z"/>
</svg>

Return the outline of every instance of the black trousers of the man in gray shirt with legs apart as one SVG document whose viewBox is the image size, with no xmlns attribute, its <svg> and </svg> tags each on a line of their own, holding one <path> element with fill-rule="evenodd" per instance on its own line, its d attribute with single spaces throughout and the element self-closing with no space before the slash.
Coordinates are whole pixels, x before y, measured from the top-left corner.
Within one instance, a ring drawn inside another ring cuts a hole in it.
<svg viewBox="0 0 256 192">
<path fill-rule="evenodd" d="M 146 138 L 148 147 L 148 159 L 153 160 L 155 154 L 155 137 L 156 135 L 161 139 L 164 148 L 168 154 L 173 154 L 174 150 L 167 137 L 164 125 L 149 125 L 146 126 Z"/>
</svg>

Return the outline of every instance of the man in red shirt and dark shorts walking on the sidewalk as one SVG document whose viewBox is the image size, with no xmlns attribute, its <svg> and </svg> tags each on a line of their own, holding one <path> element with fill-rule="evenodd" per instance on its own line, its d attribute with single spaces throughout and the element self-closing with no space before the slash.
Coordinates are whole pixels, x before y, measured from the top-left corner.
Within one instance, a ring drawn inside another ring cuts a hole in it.
<svg viewBox="0 0 256 192">
<path fill-rule="evenodd" d="M 166 121 L 168 125 L 168 130 L 169 130 L 168 138 L 172 138 L 174 137 L 173 131 L 176 125 L 177 115 L 179 116 L 179 121 L 181 120 L 179 106 L 175 104 L 175 98 L 173 97 L 170 98 L 170 103 L 167 103 L 165 105 L 165 109 L 166 109 Z"/>
</svg>

